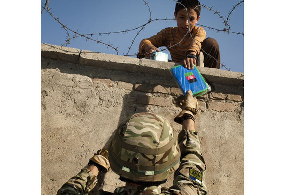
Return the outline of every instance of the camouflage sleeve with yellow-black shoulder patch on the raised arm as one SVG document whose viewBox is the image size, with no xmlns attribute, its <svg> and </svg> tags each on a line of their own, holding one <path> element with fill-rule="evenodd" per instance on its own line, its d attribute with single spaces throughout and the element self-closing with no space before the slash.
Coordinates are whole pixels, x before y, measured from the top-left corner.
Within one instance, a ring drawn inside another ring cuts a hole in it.
<svg viewBox="0 0 292 195">
<path fill-rule="evenodd" d="M 197 132 L 183 129 L 178 136 L 181 150 L 180 166 L 169 190 L 179 194 L 207 194 L 206 164 L 200 150 Z"/>
</svg>

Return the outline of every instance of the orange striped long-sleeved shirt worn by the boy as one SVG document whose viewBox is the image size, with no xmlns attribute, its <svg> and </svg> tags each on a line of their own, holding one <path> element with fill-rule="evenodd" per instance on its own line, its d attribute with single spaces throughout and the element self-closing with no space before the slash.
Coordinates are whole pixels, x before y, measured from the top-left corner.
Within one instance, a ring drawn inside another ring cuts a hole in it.
<svg viewBox="0 0 292 195">
<path fill-rule="evenodd" d="M 180 37 L 178 27 L 167 27 L 156 35 L 143 39 L 139 45 L 139 52 L 142 54 L 142 50 L 147 44 L 153 44 L 157 48 L 165 46 L 170 52 L 171 59 L 180 62 L 186 58 L 187 51 L 194 51 L 197 55 L 200 53 L 201 44 L 206 38 L 206 31 L 202 27 L 194 26 L 192 37 L 194 41 L 189 36 L 182 40 L 183 37 Z M 180 44 L 177 44 L 180 40 L 182 40 Z M 171 47 L 172 45 L 175 46 Z"/>
</svg>

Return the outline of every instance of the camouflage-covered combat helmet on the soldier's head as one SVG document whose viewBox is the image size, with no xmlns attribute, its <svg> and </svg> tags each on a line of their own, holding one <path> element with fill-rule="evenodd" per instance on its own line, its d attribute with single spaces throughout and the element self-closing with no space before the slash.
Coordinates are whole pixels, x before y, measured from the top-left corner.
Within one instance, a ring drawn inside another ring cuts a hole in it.
<svg viewBox="0 0 292 195">
<path fill-rule="evenodd" d="M 135 182 L 167 179 L 180 160 L 176 133 L 169 120 L 136 113 L 120 124 L 109 146 L 111 169 Z"/>
</svg>

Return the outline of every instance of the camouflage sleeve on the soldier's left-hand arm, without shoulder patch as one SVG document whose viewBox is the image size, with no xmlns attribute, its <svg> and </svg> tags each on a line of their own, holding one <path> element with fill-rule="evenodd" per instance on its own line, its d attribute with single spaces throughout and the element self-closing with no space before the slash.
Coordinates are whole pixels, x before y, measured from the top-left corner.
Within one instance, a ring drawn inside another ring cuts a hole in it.
<svg viewBox="0 0 292 195">
<path fill-rule="evenodd" d="M 75 177 L 69 179 L 58 190 L 57 195 L 87 195 L 97 182 L 96 176 L 92 174 L 88 167 L 85 167 Z"/>
</svg>

